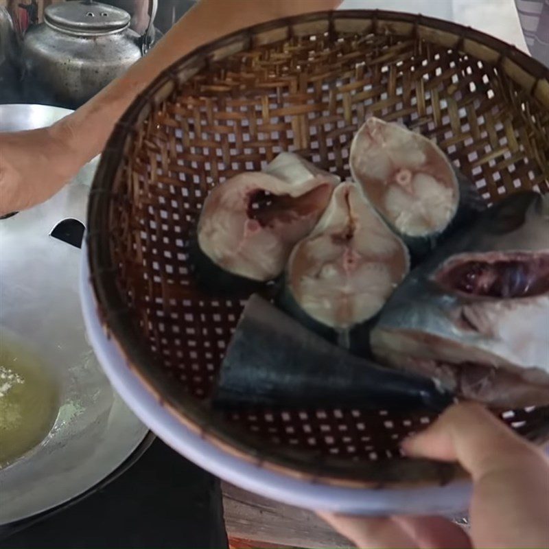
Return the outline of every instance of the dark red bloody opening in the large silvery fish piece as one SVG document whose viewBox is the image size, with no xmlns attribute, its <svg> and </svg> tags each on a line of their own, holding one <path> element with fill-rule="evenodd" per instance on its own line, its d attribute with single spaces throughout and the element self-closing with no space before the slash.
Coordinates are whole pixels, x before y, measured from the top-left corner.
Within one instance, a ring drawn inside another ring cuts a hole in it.
<svg viewBox="0 0 549 549">
<path fill-rule="evenodd" d="M 511 299 L 549 292 L 549 254 L 500 255 L 453 261 L 436 275 L 445 288 L 469 295 Z"/>
</svg>

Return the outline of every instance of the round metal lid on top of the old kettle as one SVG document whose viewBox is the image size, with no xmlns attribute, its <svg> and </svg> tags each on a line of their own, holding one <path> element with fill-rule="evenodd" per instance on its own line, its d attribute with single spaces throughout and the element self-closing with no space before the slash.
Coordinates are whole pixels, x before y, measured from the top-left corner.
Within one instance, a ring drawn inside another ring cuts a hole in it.
<svg viewBox="0 0 549 549">
<path fill-rule="evenodd" d="M 106 34 L 126 29 L 130 14 L 93 0 L 79 0 L 49 5 L 44 20 L 51 27 L 71 34 Z"/>
</svg>

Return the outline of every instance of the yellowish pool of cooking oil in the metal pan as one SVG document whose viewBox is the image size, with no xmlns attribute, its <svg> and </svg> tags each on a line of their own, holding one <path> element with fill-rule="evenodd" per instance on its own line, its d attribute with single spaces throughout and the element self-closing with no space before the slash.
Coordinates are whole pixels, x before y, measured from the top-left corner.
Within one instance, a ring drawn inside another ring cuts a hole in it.
<svg viewBox="0 0 549 549">
<path fill-rule="evenodd" d="M 0 331 L 0 469 L 43 441 L 58 408 L 56 384 L 39 356 Z"/>
</svg>

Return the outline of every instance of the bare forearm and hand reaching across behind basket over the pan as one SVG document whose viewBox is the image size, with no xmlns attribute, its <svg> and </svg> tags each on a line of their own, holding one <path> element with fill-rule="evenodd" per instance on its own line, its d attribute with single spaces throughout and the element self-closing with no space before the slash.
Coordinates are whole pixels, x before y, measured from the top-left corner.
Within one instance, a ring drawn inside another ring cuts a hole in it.
<svg viewBox="0 0 549 549">
<path fill-rule="evenodd" d="M 0 215 L 47 200 L 99 154 L 135 96 L 195 47 L 248 25 L 331 10 L 341 0 L 200 0 L 150 53 L 51 128 L 0 134 Z"/>
</svg>

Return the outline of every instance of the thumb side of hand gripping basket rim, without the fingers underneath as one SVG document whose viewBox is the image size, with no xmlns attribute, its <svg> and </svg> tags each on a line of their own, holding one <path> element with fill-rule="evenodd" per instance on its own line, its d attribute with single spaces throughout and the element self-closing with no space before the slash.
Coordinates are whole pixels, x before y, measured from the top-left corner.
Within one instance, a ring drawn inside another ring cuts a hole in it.
<svg viewBox="0 0 549 549">
<path fill-rule="evenodd" d="M 475 547 L 549 546 L 549 460 L 488 410 L 452 406 L 403 448 L 409 456 L 457 461 L 469 471 Z"/>
</svg>

